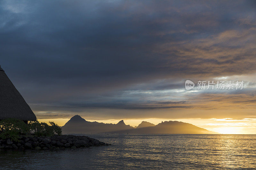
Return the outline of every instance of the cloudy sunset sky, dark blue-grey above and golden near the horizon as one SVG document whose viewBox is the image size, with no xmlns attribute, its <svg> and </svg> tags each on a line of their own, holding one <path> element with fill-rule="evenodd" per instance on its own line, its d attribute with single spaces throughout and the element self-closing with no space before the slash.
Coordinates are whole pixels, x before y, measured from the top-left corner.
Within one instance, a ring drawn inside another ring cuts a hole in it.
<svg viewBox="0 0 256 170">
<path fill-rule="evenodd" d="M 255 41 L 253 0 L 0 1 L 1 67 L 38 120 L 61 126 L 81 115 L 256 134 Z"/>
</svg>

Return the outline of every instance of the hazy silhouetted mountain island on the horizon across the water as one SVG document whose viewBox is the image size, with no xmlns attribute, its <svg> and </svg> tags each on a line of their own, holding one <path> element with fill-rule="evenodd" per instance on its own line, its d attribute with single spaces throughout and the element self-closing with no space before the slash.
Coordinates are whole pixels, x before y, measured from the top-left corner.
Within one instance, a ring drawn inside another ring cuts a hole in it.
<svg viewBox="0 0 256 170">
<path fill-rule="evenodd" d="M 142 121 L 137 128 L 126 125 L 123 120 L 117 124 L 89 122 L 79 115 L 73 116 L 62 128 L 62 133 L 130 133 L 130 134 L 218 134 L 190 123 L 165 121 L 157 125 Z"/>
</svg>

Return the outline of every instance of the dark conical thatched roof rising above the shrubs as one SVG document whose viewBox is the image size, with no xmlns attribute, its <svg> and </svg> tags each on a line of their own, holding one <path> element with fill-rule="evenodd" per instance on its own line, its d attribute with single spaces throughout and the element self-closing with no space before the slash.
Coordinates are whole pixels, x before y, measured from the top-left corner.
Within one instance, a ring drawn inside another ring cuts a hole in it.
<svg viewBox="0 0 256 170">
<path fill-rule="evenodd" d="M 0 66 L 0 119 L 36 121 L 36 116 Z"/>
</svg>

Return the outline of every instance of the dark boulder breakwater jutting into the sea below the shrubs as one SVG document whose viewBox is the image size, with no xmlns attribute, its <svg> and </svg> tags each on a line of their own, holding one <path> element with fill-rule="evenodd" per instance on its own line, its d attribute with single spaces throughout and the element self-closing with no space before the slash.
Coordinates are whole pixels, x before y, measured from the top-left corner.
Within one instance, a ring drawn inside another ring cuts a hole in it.
<svg viewBox="0 0 256 170">
<path fill-rule="evenodd" d="M 20 136 L 17 142 L 0 139 L 0 149 L 60 149 L 111 145 L 87 136 L 54 135 L 52 137 Z"/>
</svg>

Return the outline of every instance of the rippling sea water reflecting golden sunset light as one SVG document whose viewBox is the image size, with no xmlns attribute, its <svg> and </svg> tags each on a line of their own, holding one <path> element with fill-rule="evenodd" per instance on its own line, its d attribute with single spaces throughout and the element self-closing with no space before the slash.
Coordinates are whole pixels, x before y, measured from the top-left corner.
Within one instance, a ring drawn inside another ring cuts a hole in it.
<svg viewBox="0 0 256 170">
<path fill-rule="evenodd" d="M 89 135 L 111 146 L 0 151 L 0 169 L 253 169 L 256 135 Z"/>
</svg>

